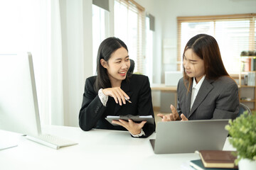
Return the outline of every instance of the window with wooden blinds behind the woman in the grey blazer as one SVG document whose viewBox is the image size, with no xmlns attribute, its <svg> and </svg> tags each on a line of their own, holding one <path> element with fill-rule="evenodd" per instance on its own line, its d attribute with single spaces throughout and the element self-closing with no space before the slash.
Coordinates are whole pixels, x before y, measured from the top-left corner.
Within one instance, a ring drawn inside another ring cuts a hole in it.
<svg viewBox="0 0 256 170">
<path fill-rule="evenodd" d="M 178 61 L 182 61 L 186 42 L 206 33 L 218 42 L 223 63 L 229 74 L 240 72 L 240 53 L 256 49 L 256 13 L 228 16 L 178 17 Z M 181 69 L 181 64 L 178 65 Z"/>
</svg>

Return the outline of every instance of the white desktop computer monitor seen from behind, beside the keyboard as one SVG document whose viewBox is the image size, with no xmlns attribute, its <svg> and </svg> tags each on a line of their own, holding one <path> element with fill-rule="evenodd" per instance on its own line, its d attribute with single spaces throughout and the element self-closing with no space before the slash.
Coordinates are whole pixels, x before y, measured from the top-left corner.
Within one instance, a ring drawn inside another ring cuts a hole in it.
<svg viewBox="0 0 256 170">
<path fill-rule="evenodd" d="M 0 130 L 41 133 L 30 52 L 0 54 L 0 84 Z"/>
</svg>

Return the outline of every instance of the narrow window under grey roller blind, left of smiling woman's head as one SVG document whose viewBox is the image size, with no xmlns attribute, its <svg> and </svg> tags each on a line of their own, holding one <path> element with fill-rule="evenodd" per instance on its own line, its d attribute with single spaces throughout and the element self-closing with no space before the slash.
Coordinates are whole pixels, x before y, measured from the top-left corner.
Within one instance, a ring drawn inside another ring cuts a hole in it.
<svg viewBox="0 0 256 170">
<path fill-rule="evenodd" d="M 99 6 L 92 5 L 92 62 L 96 74 L 97 50 L 100 43 L 109 35 L 109 12 Z"/>
</svg>

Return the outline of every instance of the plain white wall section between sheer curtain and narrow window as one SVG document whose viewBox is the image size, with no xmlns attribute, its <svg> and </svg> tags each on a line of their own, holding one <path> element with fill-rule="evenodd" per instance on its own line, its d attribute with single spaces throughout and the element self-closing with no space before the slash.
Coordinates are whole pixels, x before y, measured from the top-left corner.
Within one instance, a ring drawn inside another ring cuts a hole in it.
<svg viewBox="0 0 256 170">
<path fill-rule="evenodd" d="M 64 125 L 78 126 L 85 79 L 92 76 L 92 0 L 60 1 L 60 18 Z"/>
</svg>

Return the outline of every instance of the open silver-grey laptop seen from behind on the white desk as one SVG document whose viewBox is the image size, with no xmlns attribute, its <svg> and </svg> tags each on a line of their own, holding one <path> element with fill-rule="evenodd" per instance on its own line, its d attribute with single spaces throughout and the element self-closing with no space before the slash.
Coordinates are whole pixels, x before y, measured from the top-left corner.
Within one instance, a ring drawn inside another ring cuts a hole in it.
<svg viewBox="0 0 256 170">
<path fill-rule="evenodd" d="M 228 119 L 159 122 L 156 139 L 149 140 L 155 154 L 193 153 L 196 150 L 222 150 Z"/>
</svg>

